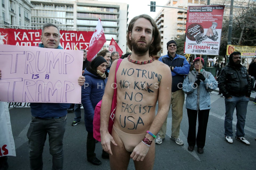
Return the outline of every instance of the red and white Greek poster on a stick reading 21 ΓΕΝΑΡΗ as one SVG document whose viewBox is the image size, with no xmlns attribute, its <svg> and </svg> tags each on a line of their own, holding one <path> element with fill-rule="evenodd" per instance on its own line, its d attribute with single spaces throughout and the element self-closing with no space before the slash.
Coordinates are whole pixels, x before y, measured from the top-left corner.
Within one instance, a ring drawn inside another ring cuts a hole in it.
<svg viewBox="0 0 256 170">
<path fill-rule="evenodd" d="M 184 53 L 219 55 L 224 7 L 188 6 Z"/>
</svg>

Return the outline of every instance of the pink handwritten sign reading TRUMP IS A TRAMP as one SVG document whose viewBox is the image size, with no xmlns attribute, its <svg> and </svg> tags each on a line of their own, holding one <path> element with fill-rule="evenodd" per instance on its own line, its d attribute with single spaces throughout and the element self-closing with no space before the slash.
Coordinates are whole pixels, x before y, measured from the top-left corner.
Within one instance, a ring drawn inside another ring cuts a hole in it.
<svg viewBox="0 0 256 170">
<path fill-rule="evenodd" d="M 83 51 L 15 45 L 0 49 L 0 101 L 81 103 Z"/>
</svg>

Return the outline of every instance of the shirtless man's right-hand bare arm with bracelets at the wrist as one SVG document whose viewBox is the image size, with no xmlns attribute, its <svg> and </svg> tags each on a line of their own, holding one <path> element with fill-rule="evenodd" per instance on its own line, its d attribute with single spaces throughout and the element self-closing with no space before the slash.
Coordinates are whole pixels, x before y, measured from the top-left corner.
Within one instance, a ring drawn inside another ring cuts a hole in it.
<svg viewBox="0 0 256 170">
<path fill-rule="evenodd" d="M 162 79 L 159 84 L 158 91 L 158 111 L 149 128 L 149 131 L 155 135 L 161 129 L 163 122 L 165 121 L 168 115 L 169 106 L 171 102 L 171 71 L 167 65 L 161 66 L 161 69 L 163 70 L 163 72 L 161 73 Z M 154 138 L 148 133 L 145 135 L 145 137 L 150 141 L 154 140 Z M 149 146 L 146 146 L 144 143 L 140 142 L 131 153 L 131 158 L 133 160 L 143 161 L 148 150 Z"/>
</svg>

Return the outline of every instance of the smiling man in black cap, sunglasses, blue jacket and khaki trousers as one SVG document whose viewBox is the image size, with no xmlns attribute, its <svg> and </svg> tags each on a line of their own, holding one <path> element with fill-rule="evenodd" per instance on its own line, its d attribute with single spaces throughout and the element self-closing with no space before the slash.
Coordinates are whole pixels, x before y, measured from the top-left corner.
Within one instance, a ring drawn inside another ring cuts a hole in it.
<svg viewBox="0 0 256 170">
<path fill-rule="evenodd" d="M 182 83 L 185 75 L 189 74 L 190 65 L 186 57 L 176 54 L 177 43 L 171 40 L 167 43 L 167 55 L 160 57 L 158 60 L 167 64 L 171 69 L 172 85 L 171 85 L 171 137 L 178 145 L 183 145 L 183 141 L 179 138 L 179 130 L 182 120 L 183 104 L 185 94 L 182 91 Z M 161 144 L 165 139 L 167 118 L 163 123 L 162 128 L 158 132 L 158 137 L 155 139 L 156 144 Z"/>
</svg>

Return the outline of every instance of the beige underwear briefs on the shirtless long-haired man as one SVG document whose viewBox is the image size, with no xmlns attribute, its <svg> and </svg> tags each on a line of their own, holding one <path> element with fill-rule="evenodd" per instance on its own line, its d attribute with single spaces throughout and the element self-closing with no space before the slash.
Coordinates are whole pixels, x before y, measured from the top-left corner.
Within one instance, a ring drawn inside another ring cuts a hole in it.
<svg viewBox="0 0 256 170">
<path fill-rule="evenodd" d="M 146 133 L 143 133 L 143 134 L 125 133 L 117 129 L 114 125 L 113 125 L 113 129 L 115 130 L 115 132 L 117 133 L 121 141 L 123 142 L 123 145 L 125 146 L 125 149 L 128 152 L 132 152 L 135 146 L 137 146 L 139 142 L 141 142 L 144 136 L 146 135 Z"/>
</svg>

